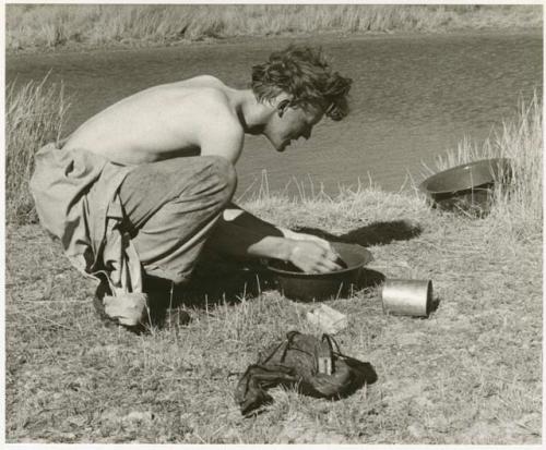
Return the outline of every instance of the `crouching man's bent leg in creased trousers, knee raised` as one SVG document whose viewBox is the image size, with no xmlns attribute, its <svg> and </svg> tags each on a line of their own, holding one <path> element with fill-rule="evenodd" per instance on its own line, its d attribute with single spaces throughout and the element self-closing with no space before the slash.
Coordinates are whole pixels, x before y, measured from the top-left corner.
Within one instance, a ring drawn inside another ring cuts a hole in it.
<svg viewBox="0 0 546 450">
<path fill-rule="evenodd" d="M 144 165 L 127 177 L 119 194 L 146 275 L 188 280 L 236 180 L 233 165 L 213 156 Z"/>
</svg>

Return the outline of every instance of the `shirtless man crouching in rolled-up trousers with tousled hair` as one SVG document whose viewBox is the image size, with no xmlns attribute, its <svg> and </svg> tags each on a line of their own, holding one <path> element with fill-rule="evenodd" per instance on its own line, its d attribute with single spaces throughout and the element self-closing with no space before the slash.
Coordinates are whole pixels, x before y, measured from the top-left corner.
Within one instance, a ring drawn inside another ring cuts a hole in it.
<svg viewBox="0 0 546 450">
<path fill-rule="evenodd" d="M 144 320 L 143 277 L 186 282 L 205 243 L 307 272 L 339 269 L 327 241 L 230 200 L 245 134 L 284 151 L 323 115 L 343 119 L 349 88 L 320 51 L 289 47 L 252 68 L 250 89 L 204 75 L 132 95 L 38 151 L 31 186 L 41 224 L 82 272 L 107 277 L 105 311 L 126 326 Z"/>
</svg>

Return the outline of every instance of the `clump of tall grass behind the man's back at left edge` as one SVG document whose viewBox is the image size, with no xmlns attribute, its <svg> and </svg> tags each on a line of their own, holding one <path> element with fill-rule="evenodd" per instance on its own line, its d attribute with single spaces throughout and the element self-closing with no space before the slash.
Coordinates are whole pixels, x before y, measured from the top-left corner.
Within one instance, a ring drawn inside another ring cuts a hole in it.
<svg viewBox="0 0 546 450">
<path fill-rule="evenodd" d="M 28 181 L 34 155 L 61 134 L 68 101 L 63 86 L 32 81 L 20 87 L 8 85 L 5 95 L 5 218 L 8 222 L 36 220 Z"/>
</svg>

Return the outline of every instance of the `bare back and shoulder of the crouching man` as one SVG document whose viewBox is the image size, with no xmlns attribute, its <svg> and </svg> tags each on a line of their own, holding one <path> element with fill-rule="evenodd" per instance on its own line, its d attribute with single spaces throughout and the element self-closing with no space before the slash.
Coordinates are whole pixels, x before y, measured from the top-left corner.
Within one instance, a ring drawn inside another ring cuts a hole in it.
<svg viewBox="0 0 546 450">
<path fill-rule="evenodd" d="M 237 90 L 203 75 L 118 101 L 83 123 L 64 148 L 86 149 L 123 166 L 200 154 L 235 162 L 244 133 Z"/>
</svg>

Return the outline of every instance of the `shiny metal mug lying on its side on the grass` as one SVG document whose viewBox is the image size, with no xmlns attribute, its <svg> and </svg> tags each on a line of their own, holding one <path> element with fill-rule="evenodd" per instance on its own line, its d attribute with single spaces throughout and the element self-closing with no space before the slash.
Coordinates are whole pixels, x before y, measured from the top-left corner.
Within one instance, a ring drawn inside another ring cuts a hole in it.
<svg viewBox="0 0 546 450">
<path fill-rule="evenodd" d="M 381 297 L 385 314 L 426 317 L 432 303 L 432 281 L 385 280 Z"/>
</svg>

